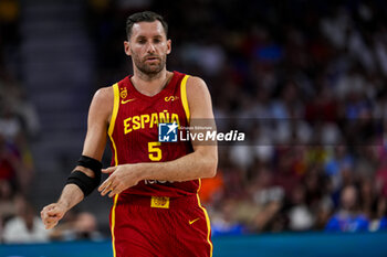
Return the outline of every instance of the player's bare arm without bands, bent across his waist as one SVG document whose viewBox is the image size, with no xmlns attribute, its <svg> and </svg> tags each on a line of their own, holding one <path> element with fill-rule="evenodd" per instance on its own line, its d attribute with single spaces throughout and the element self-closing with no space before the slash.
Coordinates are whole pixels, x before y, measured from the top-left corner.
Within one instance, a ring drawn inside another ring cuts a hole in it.
<svg viewBox="0 0 387 257">
<path fill-rule="evenodd" d="M 187 81 L 187 99 L 190 111 L 190 127 L 196 122 L 208 122 L 215 127 L 210 93 L 206 83 L 199 77 L 189 77 Z M 210 146 L 209 146 L 210 144 Z M 211 178 L 217 173 L 218 147 L 217 142 L 202 146 L 192 141 L 194 152 L 167 162 L 143 162 L 123 164 L 103 170 L 112 173 L 98 191 L 102 195 L 115 194 L 126 190 L 127 185 L 137 184 L 142 180 L 189 181 L 200 178 Z"/>
</svg>

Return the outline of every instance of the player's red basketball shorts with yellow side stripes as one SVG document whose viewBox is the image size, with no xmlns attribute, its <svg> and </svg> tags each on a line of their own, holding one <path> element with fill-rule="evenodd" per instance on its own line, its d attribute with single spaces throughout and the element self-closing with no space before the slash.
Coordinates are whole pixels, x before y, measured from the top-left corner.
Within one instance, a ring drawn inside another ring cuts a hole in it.
<svg viewBox="0 0 387 257">
<path fill-rule="evenodd" d="M 210 223 L 198 195 L 116 195 L 111 231 L 114 257 L 212 256 Z"/>
</svg>

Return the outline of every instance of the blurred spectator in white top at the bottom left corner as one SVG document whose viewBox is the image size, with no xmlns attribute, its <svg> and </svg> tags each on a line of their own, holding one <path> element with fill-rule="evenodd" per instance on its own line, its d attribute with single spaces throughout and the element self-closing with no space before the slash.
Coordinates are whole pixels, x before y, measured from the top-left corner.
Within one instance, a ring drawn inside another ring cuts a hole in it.
<svg viewBox="0 0 387 257">
<path fill-rule="evenodd" d="M 49 232 L 23 196 L 17 199 L 17 216 L 6 223 L 2 239 L 4 243 L 17 244 L 49 240 Z"/>
</svg>

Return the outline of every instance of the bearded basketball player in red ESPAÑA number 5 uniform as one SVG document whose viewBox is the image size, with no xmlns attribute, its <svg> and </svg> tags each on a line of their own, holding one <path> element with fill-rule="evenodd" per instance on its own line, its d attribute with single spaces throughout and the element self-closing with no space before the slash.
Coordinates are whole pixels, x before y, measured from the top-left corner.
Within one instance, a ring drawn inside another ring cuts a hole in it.
<svg viewBox="0 0 387 257">
<path fill-rule="evenodd" d="M 171 41 L 160 15 L 135 13 L 126 32 L 134 75 L 96 92 L 82 157 L 60 200 L 42 210 L 43 223 L 54 227 L 98 186 L 108 137 L 112 167 L 102 170 L 109 176 L 98 191 L 114 197 L 114 257 L 212 256 L 209 218 L 197 193 L 200 178 L 216 174 L 217 146 L 158 141 L 161 122 L 172 130 L 213 120 L 210 94 L 199 77 L 166 69 Z"/>
</svg>

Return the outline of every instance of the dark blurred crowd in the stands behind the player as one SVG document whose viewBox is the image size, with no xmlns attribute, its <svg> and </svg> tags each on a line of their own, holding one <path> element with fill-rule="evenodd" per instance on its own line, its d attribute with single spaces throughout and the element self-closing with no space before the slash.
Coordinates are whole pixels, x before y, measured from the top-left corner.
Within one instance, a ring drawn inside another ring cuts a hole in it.
<svg viewBox="0 0 387 257">
<path fill-rule="evenodd" d="M 386 1 L 0 0 L 1 242 L 109 236 L 96 193 L 52 232 L 39 211 L 94 92 L 132 73 L 125 20 L 142 10 L 169 22 L 168 69 L 201 76 L 217 119 L 253 135 L 202 180 L 213 236 L 387 229 Z"/>
</svg>

